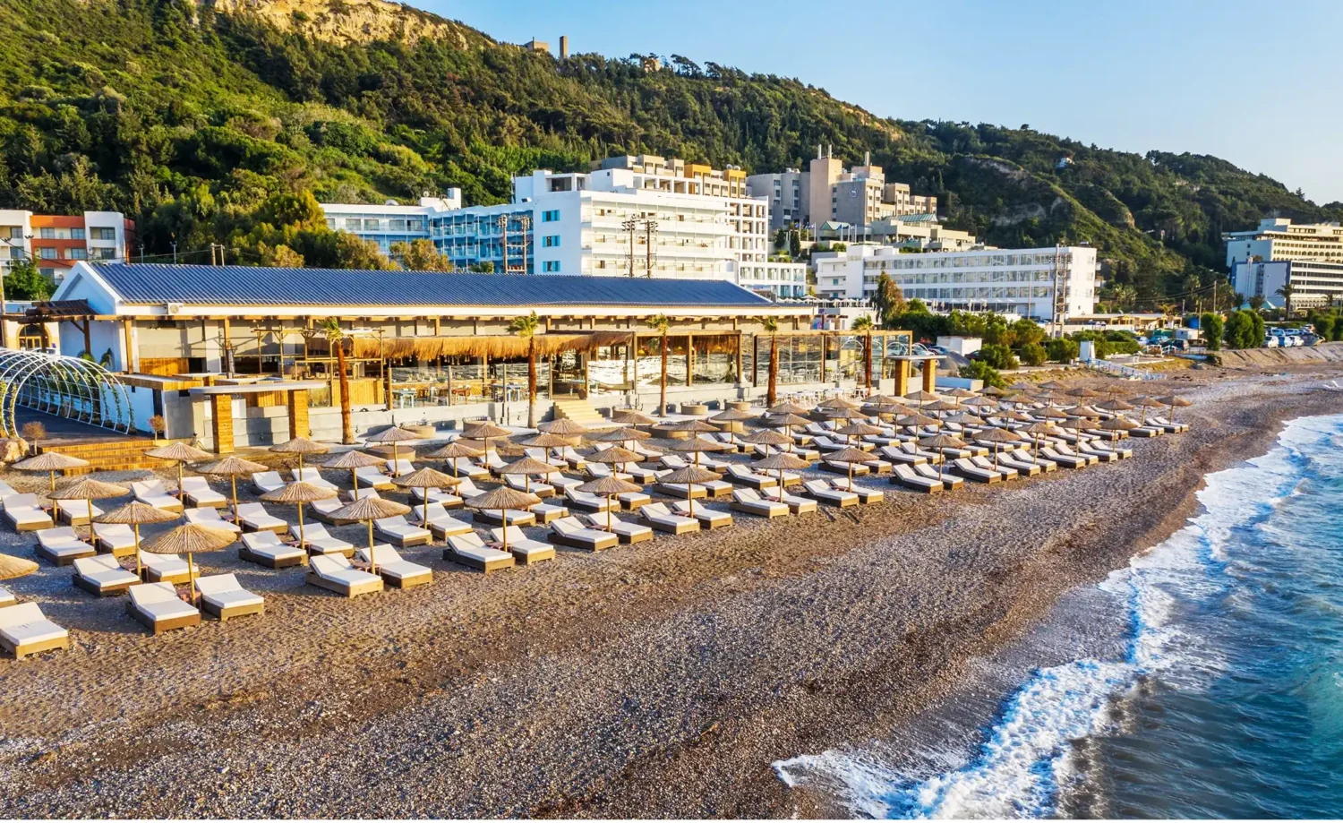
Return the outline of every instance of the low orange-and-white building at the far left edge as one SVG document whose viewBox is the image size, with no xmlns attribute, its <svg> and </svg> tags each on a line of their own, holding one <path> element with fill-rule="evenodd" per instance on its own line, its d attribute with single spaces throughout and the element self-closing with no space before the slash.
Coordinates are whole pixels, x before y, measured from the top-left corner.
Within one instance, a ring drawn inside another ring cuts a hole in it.
<svg viewBox="0 0 1343 823">
<path fill-rule="evenodd" d="M 62 281 L 79 260 L 125 262 L 134 242 L 136 224 L 121 212 L 0 211 L 0 273 L 5 274 L 15 260 L 31 259 L 42 274 Z"/>
</svg>

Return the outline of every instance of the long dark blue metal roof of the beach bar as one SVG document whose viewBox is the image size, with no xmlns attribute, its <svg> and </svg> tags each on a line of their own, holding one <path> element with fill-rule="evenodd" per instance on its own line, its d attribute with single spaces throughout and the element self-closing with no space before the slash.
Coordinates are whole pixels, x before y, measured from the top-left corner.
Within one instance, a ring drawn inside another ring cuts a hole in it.
<svg viewBox="0 0 1343 823">
<path fill-rule="evenodd" d="M 94 269 L 126 303 L 197 306 L 761 307 L 727 281 L 353 269 L 110 263 Z"/>
</svg>

